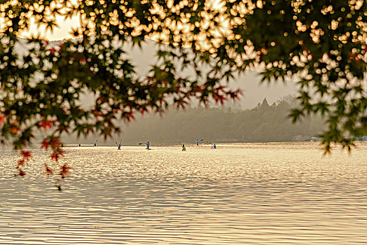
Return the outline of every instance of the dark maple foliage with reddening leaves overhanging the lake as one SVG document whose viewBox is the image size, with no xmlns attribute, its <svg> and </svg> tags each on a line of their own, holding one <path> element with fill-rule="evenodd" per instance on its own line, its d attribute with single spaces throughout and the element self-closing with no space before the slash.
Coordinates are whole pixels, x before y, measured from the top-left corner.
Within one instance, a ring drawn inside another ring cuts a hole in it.
<svg viewBox="0 0 367 245">
<path fill-rule="evenodd" d="M 45 130 L 57 160 L 62 133 L 109 136 L 118 120 L 171 102 L 235 99 L 226 82 L 245 69 L 299 83 L 291 117 L 323 114 L 326 151 L 367 134 L 366 1 L 1 0 L 0 10 L 0 127 L 15 148 Z M 53 29 L 59 15 L 80 19 L 75 39 L 32 36 L 17 52 L 31 22 Z M 138 74 L 123 43 L 147 38 L 160 43 L 157 62 Z M 93 106 L 81 105 L 84 93 Z"/>
</svg>

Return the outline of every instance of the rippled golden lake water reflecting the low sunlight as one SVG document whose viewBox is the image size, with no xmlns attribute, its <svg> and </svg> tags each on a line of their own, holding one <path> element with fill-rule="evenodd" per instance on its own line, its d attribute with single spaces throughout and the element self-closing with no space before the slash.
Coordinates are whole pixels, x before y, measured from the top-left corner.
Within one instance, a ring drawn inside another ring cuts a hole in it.
<svg viewBox="0 0 367 245">
<path fill-rule="evenodd" d="M 62 183 L 34 151 L 0 150 L 0 244 L 358 244 L 367 239 L 367 144 L 65 148 Z M 54 167 L 55 170 L 55 167 Z"/>
</svg>

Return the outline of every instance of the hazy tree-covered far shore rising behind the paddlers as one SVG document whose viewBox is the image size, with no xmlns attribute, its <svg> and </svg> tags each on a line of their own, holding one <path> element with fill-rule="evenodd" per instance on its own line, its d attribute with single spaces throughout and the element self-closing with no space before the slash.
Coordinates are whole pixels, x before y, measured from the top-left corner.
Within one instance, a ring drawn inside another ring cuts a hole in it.
<svg viewBox="0 0 367 245">
<path fill-rule="evenodd" d="M 304 118 L 291 123 L 289 113 L 296 106 L 291 96 L 282 97 L 271 106 L 267 99 L 254 109 L 189 108 L 171 109 L 162 116 L 146 114 L 127 124 L 121 138 L 125 145 L 141 141 L 152 144 L 195 144 L 204 142 L 303 141 L 323 129 L 321 117 Z M 118 139 L 118 138 L 116 138 Z"/>
</svg>

